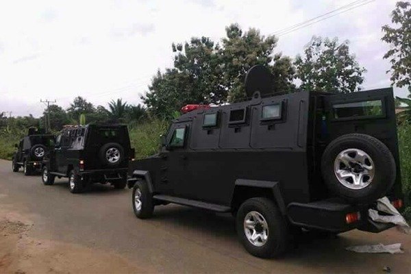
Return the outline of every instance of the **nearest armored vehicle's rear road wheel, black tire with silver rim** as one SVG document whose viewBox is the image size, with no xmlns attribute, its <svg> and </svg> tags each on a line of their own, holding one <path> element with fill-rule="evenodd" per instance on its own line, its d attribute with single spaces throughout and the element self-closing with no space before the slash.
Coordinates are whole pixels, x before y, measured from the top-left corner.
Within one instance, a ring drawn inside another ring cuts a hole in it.
<svg viewBox="0 0 411 274">
<path fill-rule="evenodd" d="M 236 216 L 238 238 L 251 255 L 273 258 L 288 245 L 286 221 L 273 201 L 263 197 L 242 203 Z"/>
</svg>

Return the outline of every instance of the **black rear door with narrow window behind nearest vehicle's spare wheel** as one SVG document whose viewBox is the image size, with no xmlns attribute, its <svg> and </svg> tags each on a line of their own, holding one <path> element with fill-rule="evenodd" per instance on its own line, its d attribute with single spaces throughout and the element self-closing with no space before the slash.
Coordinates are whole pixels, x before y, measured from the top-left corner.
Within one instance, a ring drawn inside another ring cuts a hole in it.
<svg viewBox="0 0 411 274">
<path fill-rule="evenodd" d="M 393 88 L 366 90 L 324 97 L 326 126 L 323 134 L 331 142 L 344 134 L 367 134 L 390 149 L 397 164 L 395 188 L 400 188 L 397 121 Z"/>
</svg>

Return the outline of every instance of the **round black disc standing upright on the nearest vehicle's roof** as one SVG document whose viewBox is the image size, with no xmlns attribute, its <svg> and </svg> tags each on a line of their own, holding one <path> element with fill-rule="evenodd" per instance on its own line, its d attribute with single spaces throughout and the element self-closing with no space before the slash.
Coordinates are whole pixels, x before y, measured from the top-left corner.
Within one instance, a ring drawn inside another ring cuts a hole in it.
<svg viewBox="0 0 411 274">
<path fill-rule="evenodd" d="M 253 66 L 245 75 L 245 92 L 247 97 L 252 97 L 254 92 L 266 95 L 273 92 L 273 75 L 265 66 Z"/>
</svg>

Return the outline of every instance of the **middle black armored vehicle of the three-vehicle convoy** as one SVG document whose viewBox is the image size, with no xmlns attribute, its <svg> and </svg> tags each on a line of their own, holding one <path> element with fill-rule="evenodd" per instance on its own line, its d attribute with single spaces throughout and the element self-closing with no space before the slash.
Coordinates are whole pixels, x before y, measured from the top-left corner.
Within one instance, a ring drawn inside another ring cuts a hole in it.
<svg viewBox="0 0 411 274">
<path fill-rule="evenodd" d="M 92 183 L 125 188 L 132 158 L 126 125 L 69 126 L 42 161 L 42 182 L 51 185 L 55 177 L 69 177 L 72 193 L 83 192 Z"/>
</svg>

